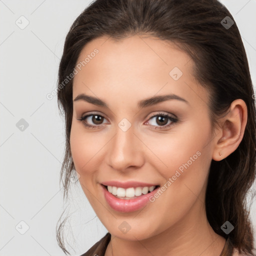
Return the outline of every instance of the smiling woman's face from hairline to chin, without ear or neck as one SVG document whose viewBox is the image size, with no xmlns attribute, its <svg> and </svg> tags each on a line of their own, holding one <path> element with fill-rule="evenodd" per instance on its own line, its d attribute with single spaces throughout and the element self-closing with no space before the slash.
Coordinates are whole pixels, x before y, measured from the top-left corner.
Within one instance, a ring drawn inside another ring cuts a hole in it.
<svg viewBox="0 0 256 256">
<path fill-rule="evenodd" d="M 208 93 L 192 66 L 174 44 L 137 35 L 94 39 L 79 55 L 71 153 L 86 197 L 113 235 L 145 239 L 205 218 L 215 140 Z"/>
</svg>

